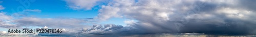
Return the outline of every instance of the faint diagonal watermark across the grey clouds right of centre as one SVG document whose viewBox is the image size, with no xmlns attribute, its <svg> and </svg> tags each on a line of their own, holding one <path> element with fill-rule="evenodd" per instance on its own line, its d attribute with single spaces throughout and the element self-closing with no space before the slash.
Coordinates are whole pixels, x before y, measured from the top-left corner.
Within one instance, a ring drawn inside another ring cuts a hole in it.
<svg viewBox="0 0 256 37">
<path fill-rule="evenodd" d="M 185 16 L 181 18 L 181 23 L 174 23 L 178 32 L 180 32 L 181 27 L 185 26 L 184 24 L 188 24 L 190 22 L 189 18 L 185 18 L 185 17 L 188 17 L 191 14 L 199 13 L 199 11 L 201 11 L 201 8 L 206 6 L 206 3 L 199 1 L 199 2 L 196 2 L 195 4 L 193 4 L 193 6 L 194 7 L 191 8 L 191 10 L 188 10 L 186 12 Z"/>
</svg>

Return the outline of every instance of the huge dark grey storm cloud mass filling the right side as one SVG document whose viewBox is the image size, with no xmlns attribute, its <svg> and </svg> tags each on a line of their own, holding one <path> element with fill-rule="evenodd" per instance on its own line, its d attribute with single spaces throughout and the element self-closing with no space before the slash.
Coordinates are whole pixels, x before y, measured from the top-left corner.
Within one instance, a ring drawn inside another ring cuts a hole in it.
<svg viewBox="0 0 256 37">
<path fill-rule="evenodd" d="M 97 19 L 135 19 L 138 22 L 126 23 L 148 34 L 255 34 L 254 7 L 246 2 L 250 1 L 114 0 L 102 6 Z"/>
</svg>

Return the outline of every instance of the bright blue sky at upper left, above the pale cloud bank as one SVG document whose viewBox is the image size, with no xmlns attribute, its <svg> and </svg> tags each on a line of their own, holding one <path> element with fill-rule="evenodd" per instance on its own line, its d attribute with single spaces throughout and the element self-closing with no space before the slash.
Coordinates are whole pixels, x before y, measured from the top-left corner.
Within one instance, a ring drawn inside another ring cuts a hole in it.
<svg viewBox="0 0 256 37">
<path fill-rule="evenodd" d="M 22 6 L 19 1 L 16 0 L 4 0 L 2 3 L 3 6 L 6 7 L 5 10 L 8 13 L 16 13 L 12 12 L 11 9 L 16 10 L 18 6 Z M 100 8 L 100 7 L 97 7 Z M 55 1 L 47 1 L 47 0 L 38 0 L 33 3 L 30 3 L 29 8 L 27 9 L 39 9 L 41 13 L 29 13 L 28 15 L 34 15 L 42 18 L 54 18 L 54 17 L 71 17 L 71 18 L 93 18 L 97 16 L 99 9 L 92 10 L 72 10 L 69 9 L 66 5 L 65 1 L 55 0 Z"/>
</svg>

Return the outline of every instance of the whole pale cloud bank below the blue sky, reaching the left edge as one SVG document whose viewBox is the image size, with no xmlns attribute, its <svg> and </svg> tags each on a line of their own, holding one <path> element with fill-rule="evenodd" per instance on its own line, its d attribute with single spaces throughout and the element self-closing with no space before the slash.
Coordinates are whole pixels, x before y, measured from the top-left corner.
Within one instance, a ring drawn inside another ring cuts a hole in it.
<svg viewBox="0 0 256 37">
<path fill-rule="evenodd" d="M 92 18 L 78 19 L 78 18 L 36 18 L 36 17 L 21 17 L 13 19 L 12 16 L 6 15 L 4 12 L 0 13 L 0 27 L 7 29 L 30 29 L 28 26 L 37 26 L 38 29 L 61 29 L 62 33 L 1 33 L 1 35 L 8 36 L 73 36 L 81 32 L 82 28 L 89 28 L 88 24 L 93 23 Z M 26 27 L 26 28 L 22 28 Z M 1 31 L 2 32 L 2 31 Z"/>
</svg>

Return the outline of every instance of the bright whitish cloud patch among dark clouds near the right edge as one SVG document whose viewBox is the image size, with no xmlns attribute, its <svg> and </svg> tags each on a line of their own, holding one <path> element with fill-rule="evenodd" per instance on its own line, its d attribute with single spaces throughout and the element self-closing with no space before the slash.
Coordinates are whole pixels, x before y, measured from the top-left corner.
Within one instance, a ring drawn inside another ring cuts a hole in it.
<svg viewBox="0 0 256 37">
<path fill-rule="evenodd" d="M 253 11 L 248 11 L 245 9 L 232 9 L 232 8 L 220 8 L 219 10 L 217 10 L 217 13 L 224 14 L 229 18 L 238 18 L 243 20 L 253 18 L 251 16 L 255 14 Z"/>
</svg>

